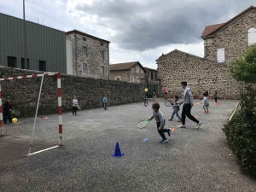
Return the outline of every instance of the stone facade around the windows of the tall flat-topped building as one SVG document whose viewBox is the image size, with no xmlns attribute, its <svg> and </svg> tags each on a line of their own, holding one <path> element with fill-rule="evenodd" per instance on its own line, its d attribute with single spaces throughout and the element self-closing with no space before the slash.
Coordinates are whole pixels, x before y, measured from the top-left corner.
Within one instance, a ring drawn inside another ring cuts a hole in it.
<svg viewBox="0 0 256 192">
<path fill-rule="evenodd" d="M 73 42 L 73 74 L 96 79 L 108 79 L 109 44 L 79 33 L 68 34 L 67 38 Z M 87 48 L 87 55 L 83 55 L 83 46 Z M 101 51 L 104 51 L 103 59 L 101 58 Z M 87 64 L 88 73 L 83 73 L 84 63 Z M 101 76 L 101 67 L 104 67 L 104 76 Z"/>
</svg>

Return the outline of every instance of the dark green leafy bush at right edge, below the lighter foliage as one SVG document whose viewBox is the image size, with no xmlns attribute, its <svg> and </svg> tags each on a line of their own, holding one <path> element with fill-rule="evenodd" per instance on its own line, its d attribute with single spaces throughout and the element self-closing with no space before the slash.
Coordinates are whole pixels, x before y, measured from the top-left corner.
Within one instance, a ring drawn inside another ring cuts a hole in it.
<svg viewBox="0 0 256 192">
<path fill-rule="evenodd" d="M 256 174 L 256 90 L 252 86 L 241 95 L 241 110 L 224 125 L 224 133 L 241 165 Z"/>
</svg>

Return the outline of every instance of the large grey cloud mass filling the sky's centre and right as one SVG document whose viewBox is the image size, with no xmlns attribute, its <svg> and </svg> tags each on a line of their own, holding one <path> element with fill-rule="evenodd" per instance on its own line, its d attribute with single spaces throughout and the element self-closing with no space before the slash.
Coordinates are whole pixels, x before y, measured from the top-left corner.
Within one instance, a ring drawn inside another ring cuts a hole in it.
<svg viewBox="0 0 256 192">
<path fill-rule="evenodd" d="M 98 26 L 117 31 L 109 40 L 120 48 L 143 51 L 167 44 L 198 43 L 205 26 L 226 22 L 253 2 L 145 0 L 137 3 L 104 0 L 92 6 L 79 4 L 76 9 L 97 15 L 101 18 Z"/>
</svg>

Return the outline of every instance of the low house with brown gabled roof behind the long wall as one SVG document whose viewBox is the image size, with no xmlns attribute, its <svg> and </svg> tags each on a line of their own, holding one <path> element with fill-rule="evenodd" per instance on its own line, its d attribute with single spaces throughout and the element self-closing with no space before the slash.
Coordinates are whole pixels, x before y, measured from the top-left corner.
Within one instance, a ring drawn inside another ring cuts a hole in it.
<svg viewBox="0 0 256 192">
<path fill-rule="evenodd" d="M 139 61 L 116 63 L 109 65 L 110 79 L 142 83 L 144 82 L 144 69 Z"/>
</svg>

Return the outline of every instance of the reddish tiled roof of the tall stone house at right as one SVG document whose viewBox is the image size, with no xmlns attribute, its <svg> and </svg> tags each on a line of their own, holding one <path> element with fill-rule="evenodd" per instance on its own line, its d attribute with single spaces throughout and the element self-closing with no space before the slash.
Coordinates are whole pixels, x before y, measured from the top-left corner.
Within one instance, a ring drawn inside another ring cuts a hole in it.
<svg viewBox="0 0 256 192">
<path fill-rule="evenodd" d="M 233 17 L 231 20 L 222 23 L 222 24 L 217 24 L 217 25 L 212 25 L 211 26 L 206 26 L 204 32 L 201 34 L 201 38 L 212 35 L 214 32 L 218 32 L 218 30 L 220 30 L 222 27 L 229 25 L 232 21 L 236 20 L 238 17 L 240 17 L 241 15 L 244 15 L 245 13 L 247 13 L 248 10 L 251 9 L 256 9 L 256 7 L 249 7 L 247 9 L 245 9 L 244 11 L 242 11 L 239 15 L 236 15 L 235 17 Z"/>
</svg>

